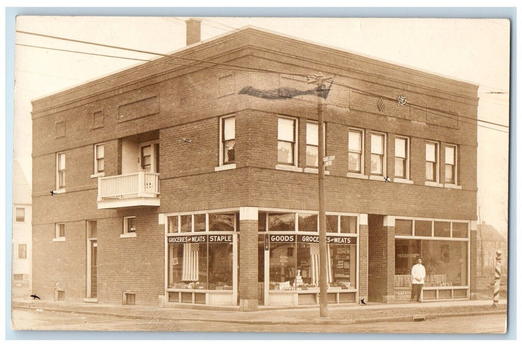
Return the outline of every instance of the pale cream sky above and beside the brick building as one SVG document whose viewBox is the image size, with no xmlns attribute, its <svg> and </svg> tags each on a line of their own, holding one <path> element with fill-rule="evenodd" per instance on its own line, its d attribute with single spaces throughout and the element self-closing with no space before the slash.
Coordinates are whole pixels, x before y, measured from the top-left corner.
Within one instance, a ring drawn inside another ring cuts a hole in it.
<svg viewBox="0 0 522 347">
<path fill-rule="evenodd" d="M 23 17 L 16 30 L 168 53 L 185 46 L 182 17 Z M 509 124 L 509 21 L 505 19 L 201 17 L 201 39 L 253 25 L 306 41 L 479 85 L 478 119 Z M 153 59 L 156 55 L 16 33 L 15 144 L 31 177 L 31 102 L 138 61 L 41 48 Z M 508 130 L 478 127 L 478 196 L 482 221 L 507 235 Z M 499 131 L 500 130 L 500 131 Z"/>
</svg>

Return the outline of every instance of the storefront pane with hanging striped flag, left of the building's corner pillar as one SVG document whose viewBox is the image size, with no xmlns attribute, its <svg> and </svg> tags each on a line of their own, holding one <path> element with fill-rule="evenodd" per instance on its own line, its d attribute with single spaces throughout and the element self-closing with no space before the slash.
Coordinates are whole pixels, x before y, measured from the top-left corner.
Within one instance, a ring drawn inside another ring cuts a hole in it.
<svg viewBox="0 0 522 347">
<path fill-rule="evenodd" d="M 207 289 L 207 244 L 169 245 L 169 288 Z"/>
</svg>

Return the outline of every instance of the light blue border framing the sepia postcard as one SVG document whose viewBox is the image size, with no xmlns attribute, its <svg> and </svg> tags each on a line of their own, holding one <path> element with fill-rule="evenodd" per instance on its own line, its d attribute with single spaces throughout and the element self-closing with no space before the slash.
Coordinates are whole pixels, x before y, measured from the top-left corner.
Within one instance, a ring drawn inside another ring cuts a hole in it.
<svg viewBox="0 0 522 347">
<path fill-rule="evenodd" d="M 120 340 L 111 331 L 19 331 L 11 321 L 11 234 L 13 223 L 14 59 L 15 19 L 32 16 L 230 16 L 230 17 L 373 17 L 373 18 L 507 18 L 511 21 L 509 96 L 508 195 L 508 310 L 507 332 L 491 334 L 307 333 L 307 340 L 515 340 L 516 331 L 516 7 L 6 7 L 5 72 L 5 339 L 6 340 Z M 515 131 L 514 131 L 515 130 Z M 300 340 L 301 333 L 125 332 L 134 340 Z"/>
</svg>

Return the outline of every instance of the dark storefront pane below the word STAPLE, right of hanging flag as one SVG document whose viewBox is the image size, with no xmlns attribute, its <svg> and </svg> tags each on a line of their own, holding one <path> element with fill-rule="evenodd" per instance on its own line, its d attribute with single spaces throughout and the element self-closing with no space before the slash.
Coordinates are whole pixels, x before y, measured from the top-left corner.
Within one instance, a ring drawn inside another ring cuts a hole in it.
<svg viewBox="0 0 522 347">
<path fill-rule="evenodd" d="M 208 244 L 208 288 L 232 290 L 232 243 Z"/>
</svg>

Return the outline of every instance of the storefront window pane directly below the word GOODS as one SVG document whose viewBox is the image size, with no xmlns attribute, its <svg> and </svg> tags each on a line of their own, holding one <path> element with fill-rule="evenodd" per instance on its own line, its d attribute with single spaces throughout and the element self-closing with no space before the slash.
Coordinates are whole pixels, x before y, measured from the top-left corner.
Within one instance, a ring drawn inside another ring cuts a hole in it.
<svg viewBox="0 0 522 347">
<path fill-rule="evenodd" d="M 270 242 L 270 289 L 291 290 L 293 288 L 296 273 L 295 261 L 295 242 Z"/>
</svg>

